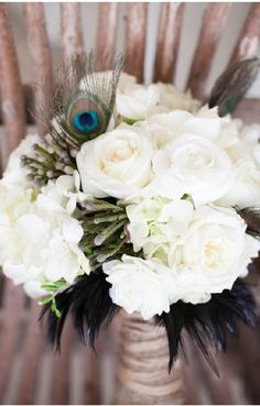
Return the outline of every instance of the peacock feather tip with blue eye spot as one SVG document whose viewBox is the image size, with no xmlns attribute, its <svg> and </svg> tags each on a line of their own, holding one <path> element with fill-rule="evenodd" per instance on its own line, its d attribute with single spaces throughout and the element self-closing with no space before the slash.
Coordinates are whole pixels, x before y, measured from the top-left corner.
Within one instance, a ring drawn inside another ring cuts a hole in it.
<svg viewBox="0 0 260 406">
<path fill-rule="evenodd" d="M 113 113 L 123 55 L 94 51 L 76 55 L 57 70 L 51 108 L 39 106 L 41 120 L 56 144 L 67 151 L 106 133 Z"/>
</svg>

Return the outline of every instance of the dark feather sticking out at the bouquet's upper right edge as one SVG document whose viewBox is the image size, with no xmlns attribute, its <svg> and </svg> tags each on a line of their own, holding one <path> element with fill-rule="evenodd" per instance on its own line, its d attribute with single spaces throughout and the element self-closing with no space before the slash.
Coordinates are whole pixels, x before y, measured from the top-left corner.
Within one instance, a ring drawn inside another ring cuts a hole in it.
<svg viewBox="0 0 260 406">
<path fill-rule="evenodd" d="M 259 59 L 253 57 L 228 67 L 213 87 L 209 107 L 218 106 L 219 116 L 232 112 L 256 80 L 259 66 Z"/>
</svg>

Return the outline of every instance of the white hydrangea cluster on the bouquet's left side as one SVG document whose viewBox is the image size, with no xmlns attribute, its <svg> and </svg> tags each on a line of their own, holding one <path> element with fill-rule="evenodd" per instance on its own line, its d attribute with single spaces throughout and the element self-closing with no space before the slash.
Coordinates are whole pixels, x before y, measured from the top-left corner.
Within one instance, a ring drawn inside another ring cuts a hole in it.
<svg viewBox="0 0 260 406">
<path fill-rule="evenodd" d="M 36 190 L 20 167 L 20 156 L 41 142 L 29 135 L 11 154 L 0 182 L 0 263 L 28 295 L 46 295 L 42 285 L 64 279 L 72 283 L 89 262 L 78 246 L 83 228 L 72 218 L 79 177 L 61 176 Z"/>
</svg>

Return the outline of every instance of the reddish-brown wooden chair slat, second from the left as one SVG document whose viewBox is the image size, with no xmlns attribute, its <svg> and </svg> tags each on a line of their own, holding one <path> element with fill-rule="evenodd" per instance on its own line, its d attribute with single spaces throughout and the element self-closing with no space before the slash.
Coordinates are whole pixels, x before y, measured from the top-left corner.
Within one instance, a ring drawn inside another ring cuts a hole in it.
<svg viewBox="0 0 260 406">
<path fill-rule="evenodd" d="M 23 15 L 26 28 L 26 37 L 32 59 L 33 79 L 39 84 L 35 88 L 35 102 L 48 111 L 53 96 L 52 55 L 45 28 L 45 18 L 42 3 L 24 3 Z M 46 125 L 37 122 L 39 133 L 46 133 Z"/>
</svg>

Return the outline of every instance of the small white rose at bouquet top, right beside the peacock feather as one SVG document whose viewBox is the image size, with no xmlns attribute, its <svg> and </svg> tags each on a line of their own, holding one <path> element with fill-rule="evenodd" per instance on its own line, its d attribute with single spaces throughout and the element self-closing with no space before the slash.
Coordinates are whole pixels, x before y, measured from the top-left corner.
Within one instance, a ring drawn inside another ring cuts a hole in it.
<svg viewBox="0 0 260 406">
<path fill-rule="evenodd" d="M 143 120 L 159 102 L 156 85 L 130 85 L 123 91 L 117 90 L 116 109 L 119 114 L 129 120 Z"/>
</svg>

